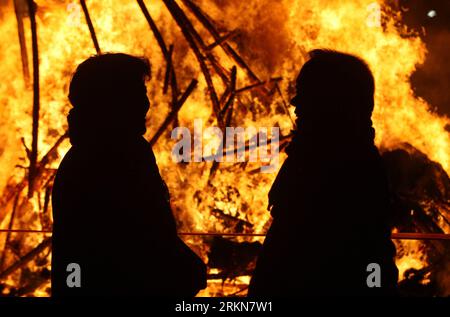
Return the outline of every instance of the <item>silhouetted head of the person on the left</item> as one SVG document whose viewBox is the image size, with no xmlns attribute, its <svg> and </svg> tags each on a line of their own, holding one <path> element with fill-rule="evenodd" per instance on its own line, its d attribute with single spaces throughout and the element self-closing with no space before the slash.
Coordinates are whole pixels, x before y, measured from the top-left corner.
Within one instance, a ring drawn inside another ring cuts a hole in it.
<svg viewBox="0 0 450 317">
<path fill-rule="evenodd" d="M 81 63 L 69 88 L 72 144 L 143 135 L 150 105 L 145 86 L 149 76 L 148 60 L 126 54 L 102 54 Z"/>
</svg>

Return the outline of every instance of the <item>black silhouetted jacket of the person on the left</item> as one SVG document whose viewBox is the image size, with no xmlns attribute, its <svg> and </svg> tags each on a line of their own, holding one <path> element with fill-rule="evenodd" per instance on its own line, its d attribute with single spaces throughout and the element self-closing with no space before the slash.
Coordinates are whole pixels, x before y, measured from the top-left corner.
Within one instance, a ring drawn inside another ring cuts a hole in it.
<svg viewBox="0 0 450 317">
<path fill-rule="evenodd" d="M 90 144 L 69 150 L 54 182 L 53 296 L 195 295 L 206 267 L 177 236 L 150 145 Z M 81 288 L 66 285 L 69 263 Z"/>
</svg>

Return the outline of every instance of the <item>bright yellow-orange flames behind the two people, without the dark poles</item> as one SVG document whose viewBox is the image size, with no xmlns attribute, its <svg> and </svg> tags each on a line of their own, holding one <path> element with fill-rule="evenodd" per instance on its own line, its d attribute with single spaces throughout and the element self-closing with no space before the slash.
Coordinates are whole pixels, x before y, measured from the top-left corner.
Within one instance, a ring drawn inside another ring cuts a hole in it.
<svg viewBox="0 0 450 317">
<path fill-rule="evenodd" d="M 25 1 L 16 2 L 23 2 L 22 6 L 26 8 Z M 77 64 L 96 51 L 79 1 L 35 2 L 40 68 L 40 160 L 66 132 L 71 73 Z M 385 6 L 383 1 L 377 4 L 374 0 L 194 1 L 211 17 L 221 36 L 230 34 L 222 43 L 210 46 L 216 40 L 188 8 L 186 3 L 189 2 L 177 1 L 204 41 L 204 47 L 198 41 L 197 44 L 201 54 L 206 56 L 219 98 L 227 90 L 226 81 L 219 71 L 215 71 L 208 55 L 228 78 L 232 76 L 233 66 L 237 66 L 237 90 L 257 83 L 258 79 L 267 81 L 256 89 L 236 93 L 232 126 L 279 126 L 281 135 L 287 136 L 293 129 L 294 114 L 285 104 L 292 95 L 292 83 L 305 61 L 305 53 L 314 48 L 332 48 L 361 56 L 374 73 L 377 90 L 373 122 L 377 145 L 389 150 L 409 143 L 430 160 L 440 163 L 447 174 L 450 172 L 450 135 L 446 131 L 450 121 L 434 114 L 426 101 L 414 95 L 409 79 L 416 67 L 424 62 L 427 49 L 417 34 L 402 26 L 401 12 Z M 165 2 L 147 1 L 146 5 L 166 44 L 173 45 L 173 69 L 180 91 L 185 91 L 192 79 L 199 81 L 179 111 L 177 125 L 192 129 L 195 119 L 202 119 L 205 125 L 218 125 L 207 82 L 179 25 Z M 91 0 L 87 1 L 87 7 L 102 52 L 125 52 L 146 56 L 151 61 L 152 78 L 147 87 L 152 106 L 146 134 L 151 139 L 169 113 L 172 101 L 171 94 L 163 92 L 166 59 L 159 44 L 136 1 Z M 26 180 L 28 166 L 24 144 L 30 147 L 32 143 L 32 79 L 25 80 L 22 71 L 23 52 L 17 36 L 13 1 L 7 1 L 0 8 L 0 192 L 3 193 L 0 196 L 0 228 L 12 224 L 13 228 L 50 230 L 51 207 L 48 206 L 46 188 L 51 185 L 51 175 L 70 144 L 64 140 L 59 145 L 57 155 L 53 155 L 41 171 L 43 176 L 33 197 L 28 198 L 26 188 L 20 184 Z M 380 16 L 378 8 L 381 8 Z M 21 14 L 31 73 L 30 22 L 26 13 Z M 258 79 L 230 57 L 221 45 L 223 43 L 238 52 Z M 264 233 L 270 223 L 266 211 L 267 193 L 276 173 L 255 173 L 260 167 L 258 163 L 220 163 L 214 168 L 210 162 L 174 163 L 171 150 L 175 141 L 170 139 L 171 127 L 154 144 L 154 152 L 171 192 L 179 231 Z M 283 155 L 282 159 L 285 158 Z M 12 233 L 8 238 L 6 236 L 6 233 L 0 233 L 0 250 L 4 254 L 0 272 L 50 234 Z M 208 260 L 206 241 L 209 238 L 183 237 L 205 261 Z M 241 237 L 236 241 L 256 240 L 262 241 L 262 238 Z M 408 268 L 420 269 L 426 265 L 422 242 L 397 242 L 397 246 L 402 249 L 398 259 L 400 276 Z M 50 270 L 50 256 L 47 252 L 5 277 L 4 294 L 21 285 L 33 284 L 30 281 L 37 279 L 33 274 L 42 272 L 42 267 Z M 217 269 L 211 269 L 210 274 L 215 273 L 218 273 Z M 241 276 L 225 287 L 219 280 L 211 279 L 209 288 L 201 295 L 238 292 L 248 280 L 248 276 Z M 50 294 L 48 278 L 35 284 L 28 293 L 20 295 Z M 245 294 L 245 290 L 240 294 Z"/>
</svg>

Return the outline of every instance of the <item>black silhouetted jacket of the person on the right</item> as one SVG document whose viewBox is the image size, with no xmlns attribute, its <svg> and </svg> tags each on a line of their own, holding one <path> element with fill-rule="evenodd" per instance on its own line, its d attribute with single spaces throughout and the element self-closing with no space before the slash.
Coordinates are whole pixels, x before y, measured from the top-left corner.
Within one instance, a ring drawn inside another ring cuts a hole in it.
<svg viewBox="0 0 450 317">
<path fill-rule="evenodd" d="M 294 137 L 270 191 L 273 223 L 249 295 L 395 294 L 389 192 L 377 148 L 304 134 Z M 381 288 L 367 286 L 369 263 L 381 267 Z"/>
</svg>

